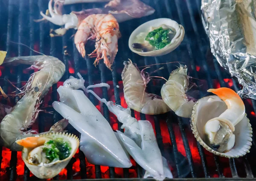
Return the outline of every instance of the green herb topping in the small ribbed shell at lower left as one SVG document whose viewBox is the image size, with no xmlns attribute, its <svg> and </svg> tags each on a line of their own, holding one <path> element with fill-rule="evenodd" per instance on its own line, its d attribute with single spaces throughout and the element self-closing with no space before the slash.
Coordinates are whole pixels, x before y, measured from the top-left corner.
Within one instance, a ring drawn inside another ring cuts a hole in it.
<svg viewBox="0 0 256 181">
<path fill-rule="evenodd" d="M 50 140 L 44 144 L 43 152 L 46 154 L 46 158 L 49 161 L 55 160 L 64 160 L 70 156 L 71 147 L 67 141 L 64 141 L 62 138 L 56 138 Z"/>
</svg>

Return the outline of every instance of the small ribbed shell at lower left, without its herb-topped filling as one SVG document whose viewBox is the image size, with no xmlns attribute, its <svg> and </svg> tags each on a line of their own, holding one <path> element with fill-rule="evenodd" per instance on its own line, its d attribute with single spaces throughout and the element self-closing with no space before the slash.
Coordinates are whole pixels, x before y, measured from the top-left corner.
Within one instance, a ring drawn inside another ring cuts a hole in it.
<svg viewBox="0 0 256 181">
<path fill-rule="evenodd" d="M 70 156 L 67 157 L 66 159 L 54 161 L 52 163 L 44 164 L 44 165 L 29 164 L 27 161 L 27 158 L 28 158 L 29 152 L 32 149 L 25 148 L 25 147 L 23 148 L 21 157 L 22 157 L 23 161 L 25 162 L 26 166 L 29 168 L 29 170 L 38 178 L 48 179 L 48 178 L 52 178 L 52 177 L 55 177 L 56 175 L 58 175 L 58 173 L 60 173 L 61 170 L 67 166 L 68 162 L 75 155 L 76 150 L 79 147 L 79 139 L 77 138 L 77 136 L 75 136 L 73 134 L 71 135 L 68 133 L 47 133 L 47 134 L 40 135 L 40 137 L 64 138 L 70 142 L 71 148 L 72 148 Z"/>
</svg>

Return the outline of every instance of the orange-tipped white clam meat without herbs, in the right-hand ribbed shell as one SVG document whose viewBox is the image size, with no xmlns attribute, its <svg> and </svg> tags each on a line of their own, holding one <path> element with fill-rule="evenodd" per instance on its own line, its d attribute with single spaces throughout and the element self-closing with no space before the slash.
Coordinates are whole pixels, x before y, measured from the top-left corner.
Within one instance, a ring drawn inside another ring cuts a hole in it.
<svg viewBox="0 0 256 181">
<path fill-rule="evenodd" d="M 206 142 L 218 152 L 224 152 L 233 148 L 235 144 L 235 126 L 245 116 L 244 102 L 239 95 L 230 88 L 209 89 L 219 96 L 227 105 L 220 116 L 209 120 L 204 127 Z"/>
</svg>

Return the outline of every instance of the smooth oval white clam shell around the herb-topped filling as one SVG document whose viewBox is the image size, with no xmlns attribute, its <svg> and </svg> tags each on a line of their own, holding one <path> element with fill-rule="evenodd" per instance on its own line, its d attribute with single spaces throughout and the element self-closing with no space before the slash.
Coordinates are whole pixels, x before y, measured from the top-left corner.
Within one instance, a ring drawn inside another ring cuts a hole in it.
<svg viewBox="0 0 256 181">
<path fill-rule="evenodd" d="M 141 51 L 137 51 L 134 48 L 132 48 L 132 44 L 134 43 L 134 40 L 138 34 L 140 34 L 141 32 L 148 32 L 150 26 L 159 28 L 162 25 L 167 25 L 169 27 L 172 27 L 176 31 L 175 37 L 172 39 L 172 41 L 169 45 L 166 45 L 164 48 L 162 48 L 160 50 L 148 51 L 148 52 L 141 52 Z M 136 54 L 139 54 L 141 56 L 157 57 L 157 56 L 162 56 L 162 55 L 168 54 L 171 51 L 175 50 L 175 48 L 177 48 L 180 45 L 180 43 L 182 42 L 182 40 L 184 38 L 184 34 L 185 34 L 185 30 L 184 30 L 183 26 L 179 25 L 176 21 L 171 20 L 169 18 L 159 18 L 159 19 L 148 21 L 148 22 L 140 25 L 138 28 L 136 28 L 132 32 L 132 34 L 129 38 L 128 44 L 129 44 L 129 48 L 131 49 L 131 51 L 133 51 Z"/>
</svg>

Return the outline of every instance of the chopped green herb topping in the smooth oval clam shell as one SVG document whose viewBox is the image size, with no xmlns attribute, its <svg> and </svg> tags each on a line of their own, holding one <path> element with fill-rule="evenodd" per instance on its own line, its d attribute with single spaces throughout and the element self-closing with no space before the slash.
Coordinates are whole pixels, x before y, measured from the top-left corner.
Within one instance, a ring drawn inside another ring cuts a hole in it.
<svg viewBox="0 0 256 181">
<path fill-rule="evenodd" d="M 150 31 L 145 38 L 150 45 L 154 46 L 156 50 L 164 48 L 166 45 L 171 43 L 169 39 L 169 32 L 171 29 L 163 29 L 162 27 Z"/>
</svg>

